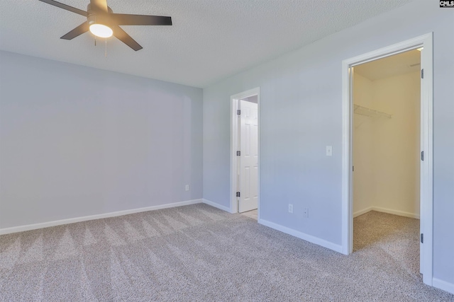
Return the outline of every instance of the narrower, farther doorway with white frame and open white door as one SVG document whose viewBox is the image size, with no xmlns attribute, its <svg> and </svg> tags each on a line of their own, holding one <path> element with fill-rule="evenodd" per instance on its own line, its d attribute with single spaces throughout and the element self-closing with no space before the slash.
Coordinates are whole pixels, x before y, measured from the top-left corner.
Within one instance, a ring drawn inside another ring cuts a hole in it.
<svg viewBox="0 0 454 302">
<path fill-rule="evenodd" d="M 260 88 L 231 96 L 232 213 L 259 219 Z"/>
</svg>

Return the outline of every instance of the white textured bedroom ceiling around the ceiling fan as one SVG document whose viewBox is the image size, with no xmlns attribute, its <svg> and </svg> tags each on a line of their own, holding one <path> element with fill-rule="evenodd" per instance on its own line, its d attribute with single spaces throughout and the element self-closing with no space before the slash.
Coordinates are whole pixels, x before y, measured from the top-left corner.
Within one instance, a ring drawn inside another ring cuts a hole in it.
<svg viewBox="0 0 454 302">
<path fill-rule="evenodd" d="M 60 0 L 87 9 L 89 0 Z M 411 0 L 108 0 L 114 13 L 172 16 L 172 26 L 122 26 L 143 50 L 85 33 L 83 16 L 38 0 L 0 0 L 0 50 L 201 87 Z"/>
</svg>

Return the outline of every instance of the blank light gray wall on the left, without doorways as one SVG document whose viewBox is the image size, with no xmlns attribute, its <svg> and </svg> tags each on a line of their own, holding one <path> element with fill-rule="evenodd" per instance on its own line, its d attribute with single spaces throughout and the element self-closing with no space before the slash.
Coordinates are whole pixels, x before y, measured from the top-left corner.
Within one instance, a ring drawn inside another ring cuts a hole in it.
<svg viewBox="0 0 454 302">
<path fill-rule="evenodd" d="M 201 173 L 201 89 L 0 52 L 0 228 L 200 199 Z"/>
</svg>

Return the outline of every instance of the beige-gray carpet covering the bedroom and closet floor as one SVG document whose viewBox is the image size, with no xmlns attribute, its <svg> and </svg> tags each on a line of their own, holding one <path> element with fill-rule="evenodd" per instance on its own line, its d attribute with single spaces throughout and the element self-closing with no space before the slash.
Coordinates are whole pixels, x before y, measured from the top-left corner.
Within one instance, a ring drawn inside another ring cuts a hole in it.
<svg viewBox="0 0 454 302">
<path fill-rule="evenodd" d="M 355 219 L 345 256 L 206 204 L 0 236 L 1 301 L 454 301 L 419 274 L 419 221 Z"/>
</svg>

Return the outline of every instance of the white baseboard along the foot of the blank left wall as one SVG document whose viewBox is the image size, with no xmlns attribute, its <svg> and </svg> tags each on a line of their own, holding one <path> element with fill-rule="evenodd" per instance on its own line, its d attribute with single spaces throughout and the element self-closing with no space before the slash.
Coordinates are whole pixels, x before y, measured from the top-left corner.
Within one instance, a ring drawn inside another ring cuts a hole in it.
<svg viewBox="0 0 454 302">
<path fill-rule="evenodd" d="M 48 228 L 50 226 L 61 226 L 62 224 L 68 224 L 68 223 L 76 223 L 76 222 L 81 222 L 81 221 L 88 221 L 88 220 L 94 220 L 94 219 L 102 219 L 102 218 L 109 218 L 109 217 L 116 217 L 116 216 L 140 213 L 143 211 L 155 211 L 155 210 L 159 210 L 159 209 L 181 207 L 181 206 L 187 206 L 189 204 L 199 204 L 201 202 L 202 202 L 202 199 L 193 199 L 193 200 L 187 200 L 184 202 L 174 202 L 172 204 L 160 204 L 157 206 L 144 207 L 144 208 L 139 208 L 139 209 L 114 211 L 114 212 L 104 213 L 104 214 L 74 217 L 74 218 L 70 218 L 70 219 L 62 219 L 62 220 L 48 221 L 48 222 L 42 222 L 42 223 L 34 223 L 34 224 L 28 224 L 26 226 L 13 226 L 11 228 L 0 228 L 0 235 L 23 232 L 23 231 L 31 231 L 31 230 L 36 230 L 38 228 Z"/>
</svg>

